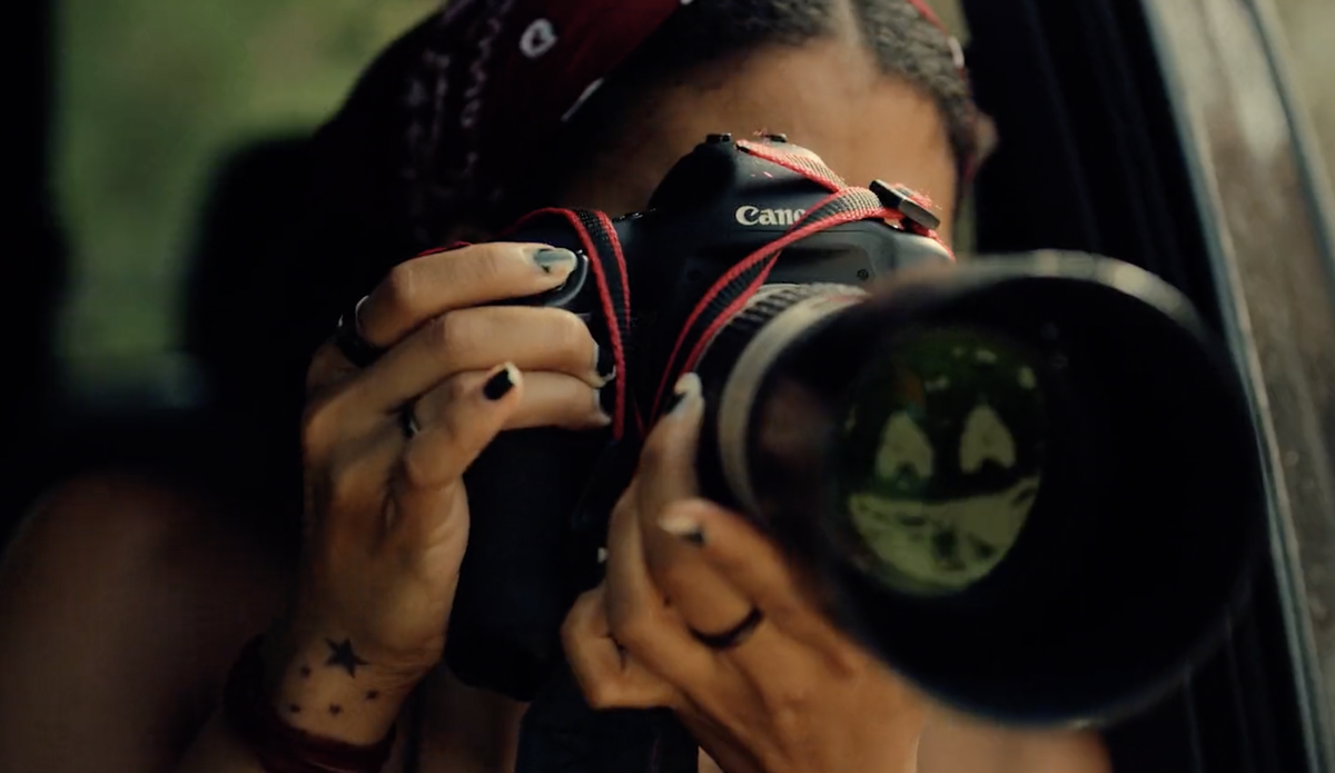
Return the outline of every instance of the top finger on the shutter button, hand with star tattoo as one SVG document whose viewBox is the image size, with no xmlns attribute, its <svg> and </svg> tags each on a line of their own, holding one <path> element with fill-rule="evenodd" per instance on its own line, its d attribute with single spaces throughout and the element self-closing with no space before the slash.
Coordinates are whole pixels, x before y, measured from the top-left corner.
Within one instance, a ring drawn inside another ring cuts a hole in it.
<svg viewBox="0 0 1335 773">
<path fill-rule="evenodd" d="M 475 244 L 422 255 L 395 266 L 371 291 L 358 328 L 387 348 L 447 311 L 559 287 L 574 268 L 574 252 L 546 244 Z"/>
</svg>

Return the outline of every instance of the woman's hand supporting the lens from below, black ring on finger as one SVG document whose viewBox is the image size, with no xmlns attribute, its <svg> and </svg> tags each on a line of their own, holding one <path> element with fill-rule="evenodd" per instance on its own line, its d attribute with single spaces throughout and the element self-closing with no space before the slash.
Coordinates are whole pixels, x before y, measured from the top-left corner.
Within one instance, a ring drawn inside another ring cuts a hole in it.
<svg viewBox="0 0 1335 773">
<path fill-rule="evenodd" d="M 929 712 L 834 630 L 772 541 L 698 497 L 698 379 L 684 378 L 678 395 L 613 514 L 606 581 L 562 631 L 595 708 L 672 708 L 728 773 L 1105 770 L 1096 740 L 1009 734 Z M 760 623 L 733 646 L 700 641 L 757 610 Z"/>
</svg>

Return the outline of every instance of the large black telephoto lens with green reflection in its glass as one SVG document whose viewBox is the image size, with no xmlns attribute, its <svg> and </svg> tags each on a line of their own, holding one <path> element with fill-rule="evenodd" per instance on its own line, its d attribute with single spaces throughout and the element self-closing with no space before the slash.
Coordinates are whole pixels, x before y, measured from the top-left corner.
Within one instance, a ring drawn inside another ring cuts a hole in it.
<svg viewBox="0 0 1335 773">
<path fill-rule="evenodd" d="M 1218 645 L 1260 543 L 1232 360 L 1177 291 L 1073 254 L 770 286 L 714 338 L 706 493 L 948 705 L 1100 724 Z"/>
</svg>

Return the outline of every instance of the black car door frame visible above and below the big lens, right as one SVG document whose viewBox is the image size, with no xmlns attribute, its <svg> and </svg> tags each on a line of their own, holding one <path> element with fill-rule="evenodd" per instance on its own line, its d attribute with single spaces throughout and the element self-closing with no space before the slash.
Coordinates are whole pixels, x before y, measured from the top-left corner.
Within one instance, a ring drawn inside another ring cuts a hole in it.
<svg viewBox="0 0 1335 773">
<path fill-rule="evenodd" d="M 965 0 L 981 107 L 1001 150 L 979 179 L 979 251 L 1061 247 L 1139 264 L 1219 324 L 1206 227 L 1137 3 Z M 1111 733 L 1117 770 L 1314 770 L 1267 567 L 1232 638 L 1168 700 Z"/>
</svg>

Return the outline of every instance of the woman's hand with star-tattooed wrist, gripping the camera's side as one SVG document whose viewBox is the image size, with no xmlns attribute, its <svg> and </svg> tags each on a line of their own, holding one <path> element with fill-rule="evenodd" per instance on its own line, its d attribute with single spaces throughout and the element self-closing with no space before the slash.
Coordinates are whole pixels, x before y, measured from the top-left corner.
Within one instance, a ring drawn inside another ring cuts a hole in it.
<svg viewBox="0 0 1335 773">
<path fill-rule="evenodd" d="M 417 258 L 360 304 L 384 352 L 332 343 L 307 379 L 302 571 L 267 662 L 279 716 L 370 744 L 439 661 L 469 534 L 461 477 L 506 429 L 594 429 L 598 347 L 558 308 L 487 306 L 561 286 L 575 256 L 493 243 Z M 521 372 L 525 375 L 521 376 Z"/>
</svg>

